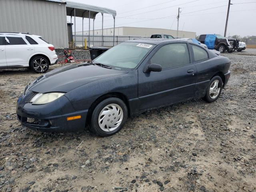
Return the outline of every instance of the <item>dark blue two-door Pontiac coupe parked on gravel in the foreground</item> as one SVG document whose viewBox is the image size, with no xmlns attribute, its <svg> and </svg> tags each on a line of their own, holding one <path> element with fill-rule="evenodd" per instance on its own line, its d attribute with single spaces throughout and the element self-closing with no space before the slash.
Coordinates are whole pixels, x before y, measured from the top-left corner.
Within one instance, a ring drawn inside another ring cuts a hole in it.
<svg viewBox="0 0 256 192">
<path fill-rule="evenodd" d="M 230 77 L 230 60 L 179 39 L 120 43 L 91 63 L 57 68 L 30 82 L 18 120 L 41 131 L 118 132 L 128 116 L 190 100 L 214 102 Z"/>
</svg>

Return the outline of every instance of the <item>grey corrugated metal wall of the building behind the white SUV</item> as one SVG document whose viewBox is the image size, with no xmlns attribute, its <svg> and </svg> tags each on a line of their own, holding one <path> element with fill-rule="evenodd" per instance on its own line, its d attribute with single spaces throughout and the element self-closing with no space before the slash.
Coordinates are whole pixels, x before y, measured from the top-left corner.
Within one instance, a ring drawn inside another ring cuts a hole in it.
<svg viewBox="0 0 256 192">
<path fill-rule="evenodd" d="M 0 0 L 0 18 L 0 32 L 40 35 L 56 48 L 68 47 L 63 0 Z"/>
</svg>

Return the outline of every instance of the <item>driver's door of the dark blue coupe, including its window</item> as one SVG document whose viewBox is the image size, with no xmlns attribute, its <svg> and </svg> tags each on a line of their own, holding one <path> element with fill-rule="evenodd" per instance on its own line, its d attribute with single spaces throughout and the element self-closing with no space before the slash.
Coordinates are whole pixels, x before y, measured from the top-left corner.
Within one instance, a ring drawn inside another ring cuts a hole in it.
<svg viewBox="0 0 256 192">
<path fill-rule="evenodd" d="M 161 72 L 138 72 L 140 110 L 194 97 L 196 67 L 190 63 L 188 45 L 172 43 L 160 47 L 146 61 L 160 64 Z"/>
</svg>

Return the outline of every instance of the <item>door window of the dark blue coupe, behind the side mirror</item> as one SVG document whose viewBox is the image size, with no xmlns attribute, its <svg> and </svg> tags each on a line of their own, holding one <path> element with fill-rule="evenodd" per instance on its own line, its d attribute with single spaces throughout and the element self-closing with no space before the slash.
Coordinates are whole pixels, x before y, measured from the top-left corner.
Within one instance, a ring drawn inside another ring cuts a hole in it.
<svg viewBox="0 0 256 192">
<path fill-rule="evenodd" d="M 159 64 L 163 69 L 189 64 L 187 44 L 174 43 L 162 46 L 151 58 L 151 63 Z"/>
</svg>

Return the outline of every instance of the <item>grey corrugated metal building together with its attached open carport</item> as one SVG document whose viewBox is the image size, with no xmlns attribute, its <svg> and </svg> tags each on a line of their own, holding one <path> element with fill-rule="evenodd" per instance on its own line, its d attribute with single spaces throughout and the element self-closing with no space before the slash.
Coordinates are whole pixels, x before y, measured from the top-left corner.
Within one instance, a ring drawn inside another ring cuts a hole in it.
<svg viewBox="0 0 256 192">
<path fill-rule="evenodd" d="M 67 16 L 74 18 L 75 32 L 76 17 L 93 19 L 94 23 L 98 13 L 102 18 L 103 14 L 111 14 L 115 21 L 115 10 L 67 0 L 0 0 L 0 32 L 39 35 L 55 48 L 65 48 L 68 47 Z"/>
</svg>

